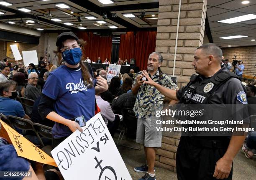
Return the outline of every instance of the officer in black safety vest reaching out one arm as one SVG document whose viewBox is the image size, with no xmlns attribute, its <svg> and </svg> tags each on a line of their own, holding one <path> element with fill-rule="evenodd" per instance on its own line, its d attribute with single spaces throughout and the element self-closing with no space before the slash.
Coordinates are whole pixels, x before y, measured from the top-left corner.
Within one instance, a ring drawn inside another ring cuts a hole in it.
<svg viewBox="0 0 256 180">
<path fill-rule="evenodd" d="M 246 89 L 236 75 L 220 67 L 221 49 L 208 43 L 195 51 L 194 66 L 198 76 L 177 91 L 167 89 L 150 79 L 144 83 L 155 86 L 170 99 L 183 104 L 247 104 Z M 188 93 L 193 93 L 189 96 Z M 202 98 L 193 98 L 193 97 Z M 245 136 L 182 136 L 177 150 L 178 180 L 232 179 L 233 159 L 244 142 Z"/>
</svg>

